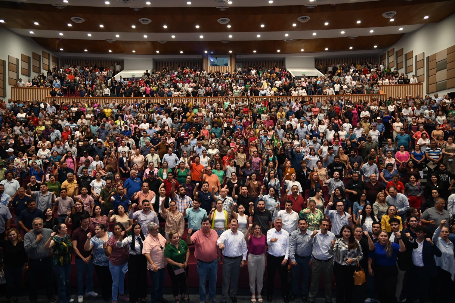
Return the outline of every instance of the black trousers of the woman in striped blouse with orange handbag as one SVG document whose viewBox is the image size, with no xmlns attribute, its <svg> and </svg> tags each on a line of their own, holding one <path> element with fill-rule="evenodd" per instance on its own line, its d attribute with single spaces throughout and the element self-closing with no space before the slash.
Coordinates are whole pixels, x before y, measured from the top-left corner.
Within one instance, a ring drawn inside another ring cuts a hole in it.
<svg viewBox="0 0 455 303">
<path fill-rule="evenodd" d="M 337 283 L 337 303 L 351 303 L 354 291 L 354 265 L 334 264 L 335 282 Z"/>
</svg>

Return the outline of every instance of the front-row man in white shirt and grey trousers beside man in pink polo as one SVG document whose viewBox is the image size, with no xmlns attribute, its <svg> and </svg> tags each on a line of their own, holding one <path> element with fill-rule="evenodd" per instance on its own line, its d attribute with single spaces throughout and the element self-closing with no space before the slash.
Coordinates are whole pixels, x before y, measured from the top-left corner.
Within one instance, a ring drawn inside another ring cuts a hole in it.
<svg viewBox="0 0 455 303">
<path fill-rule="evenodd" d="M 223 286 L 221 301 L 226 302 L 229 284 L 231 285 L 230 297 L 232 303 L 237 303 L 238 276 L 240 268 L 245 265 L 247 259 L 247 243 L 243 233 L 237 231 L 238 221 L 232 219 L 230 229 L 224 231 L 217 240 L 218 248 L 223 254 Z"/>
</svg>

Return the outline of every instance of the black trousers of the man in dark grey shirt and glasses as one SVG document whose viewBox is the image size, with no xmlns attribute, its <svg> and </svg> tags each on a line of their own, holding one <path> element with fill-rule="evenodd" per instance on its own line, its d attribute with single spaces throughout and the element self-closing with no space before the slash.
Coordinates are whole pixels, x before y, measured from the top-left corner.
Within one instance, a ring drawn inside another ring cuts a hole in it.
<svg viewBox="0 0 455 303">
<path fill-rule="evenodd" d="M 47 298 L 54 296 L 53 278 L 52 278 L 52 258 L 44 259 L 29 258 L 29 299 L 36 301 L 38 298 L 38 288 L 40 281 L 46 288 Z"/>
</svg>

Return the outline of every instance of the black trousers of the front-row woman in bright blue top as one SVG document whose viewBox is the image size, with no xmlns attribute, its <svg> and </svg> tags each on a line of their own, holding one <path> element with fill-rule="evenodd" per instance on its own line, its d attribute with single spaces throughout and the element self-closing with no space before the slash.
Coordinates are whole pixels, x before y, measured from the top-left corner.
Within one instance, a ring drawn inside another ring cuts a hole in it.
<svg viewBox="0 0 455 303">
<path fill-rule="evenodd" d="M 378 291 L 380 303 L 397 303 L 397 298 L 395 297 L 397 275 L 398 268 L 396 265 L 381 266 L 376 264 L 374 277 L 376 278 L 375 284 L 378 288 L 381 285 Z"/>
</svg>

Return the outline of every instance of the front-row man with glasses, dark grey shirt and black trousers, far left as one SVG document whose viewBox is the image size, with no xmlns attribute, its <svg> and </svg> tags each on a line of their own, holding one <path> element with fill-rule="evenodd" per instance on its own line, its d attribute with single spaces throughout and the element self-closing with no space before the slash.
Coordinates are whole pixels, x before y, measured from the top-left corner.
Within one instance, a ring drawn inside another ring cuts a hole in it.
<svg viewBox="0 0 455 303">
<path fill-rule="evenodd" d="M 50 303 L 56 303 L 54 289 L 52 287 L 52 258 L 49 256 L 51 249 L 45 249 L 44 244 L 51 238 L 52 229 L 43 228 L 43 219 L 35 218 L 32 222 L 32 230 L 24 236 L 25 253 L 29 256 L 29 299 L 36 303 L 38 298 L 39 280 L 44 281 L 47 298 Z M 40 277 L 39 279 L 36 279 Z"/>
</svg>

